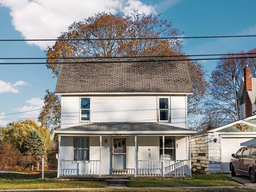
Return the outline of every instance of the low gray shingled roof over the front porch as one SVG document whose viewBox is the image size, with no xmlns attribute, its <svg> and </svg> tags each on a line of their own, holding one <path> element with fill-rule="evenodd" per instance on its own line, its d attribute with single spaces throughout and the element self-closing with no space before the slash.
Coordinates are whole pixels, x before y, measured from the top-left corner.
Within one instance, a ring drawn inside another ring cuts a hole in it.
<svg viewBox="0 0 256 192">
<path fill-rule="evenodd" d="M 175 127 L 159 123 L 92 123 L 57 131 L 187 131 L 181 127 Z"/>
</svg>

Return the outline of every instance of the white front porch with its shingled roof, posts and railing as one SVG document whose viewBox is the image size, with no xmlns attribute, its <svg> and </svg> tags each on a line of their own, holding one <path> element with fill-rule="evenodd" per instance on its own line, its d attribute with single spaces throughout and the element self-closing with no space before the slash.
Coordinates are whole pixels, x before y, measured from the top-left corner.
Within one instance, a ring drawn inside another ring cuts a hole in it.
<svg viewBox="0 0 256 192">
<path fill-rule="evenodd" d="M 94 123 L 57 130 L 58 177 L 190 176 L 194 132 L 157 123 Z"/>
</svg>

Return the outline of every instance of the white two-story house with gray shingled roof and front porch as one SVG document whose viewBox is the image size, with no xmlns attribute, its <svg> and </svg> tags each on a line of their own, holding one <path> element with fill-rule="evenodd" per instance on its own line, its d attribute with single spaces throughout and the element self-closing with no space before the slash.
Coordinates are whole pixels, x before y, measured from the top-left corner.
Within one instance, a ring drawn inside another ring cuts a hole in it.
<svg viewBox="0 0 256 192">
<path fill-rule="evenodd" d="M 187 64 L 153 60 L 61 65 L 58 177 L 191 174 Z"/>
</svg>

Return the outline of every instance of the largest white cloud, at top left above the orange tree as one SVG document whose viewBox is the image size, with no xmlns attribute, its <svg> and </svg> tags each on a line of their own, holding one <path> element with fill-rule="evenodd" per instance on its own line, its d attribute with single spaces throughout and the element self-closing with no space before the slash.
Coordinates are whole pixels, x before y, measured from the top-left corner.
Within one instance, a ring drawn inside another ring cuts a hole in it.
<svg viewBox="0 0 256 192">
<path fill-rule="evenodd" d="M 57 38 L 67 31 L 74 21 L 81 21 L 98 12 L 155 13 L 153 5 L 139 0 L 0 0 L 0 5 L 8 7 L 12 25 L 24 38 Z M 42 50 L 54 42 L 27 42 L 38 45 Z"/>
</svg>

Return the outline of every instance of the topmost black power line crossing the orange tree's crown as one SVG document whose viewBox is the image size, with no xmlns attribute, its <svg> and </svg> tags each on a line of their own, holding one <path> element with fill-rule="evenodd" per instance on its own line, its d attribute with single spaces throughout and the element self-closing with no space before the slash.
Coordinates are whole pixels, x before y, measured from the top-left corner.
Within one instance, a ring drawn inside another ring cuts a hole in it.
<svg viewBox="0 0 256 192">
<path fill-rule="evenodd" d="M 140 38 L 77 38 L 77 39 L 0 39 L 0 42 L 18 41 L 109 41 L 109 40 L 143 40 L 143 39 L 188 39 L 188 38 L 239 38 L 256 37 L 256 35 L 227 35 L 227 36 L 190 36 L 190 37 L 140 37 Z"/>
</svg>

